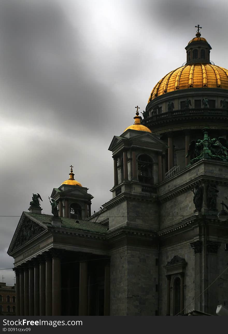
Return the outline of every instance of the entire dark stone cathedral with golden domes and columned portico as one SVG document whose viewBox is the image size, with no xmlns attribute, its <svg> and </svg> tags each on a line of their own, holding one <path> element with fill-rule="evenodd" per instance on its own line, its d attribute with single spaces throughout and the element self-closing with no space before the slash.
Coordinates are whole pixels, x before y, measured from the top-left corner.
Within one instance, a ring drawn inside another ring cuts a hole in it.
<svg viewBox="0 0 228 334">
<path fill-rule="evenodd" d="M 228 305 L 228 70 L 199 28 L 143 117 L 135 107 L 113 137 L 112 199 L 91 214 L 72 165 L 52 215 L 33 194 L 7 252 L 17 315 L 215 315 Z"/>
</svg>

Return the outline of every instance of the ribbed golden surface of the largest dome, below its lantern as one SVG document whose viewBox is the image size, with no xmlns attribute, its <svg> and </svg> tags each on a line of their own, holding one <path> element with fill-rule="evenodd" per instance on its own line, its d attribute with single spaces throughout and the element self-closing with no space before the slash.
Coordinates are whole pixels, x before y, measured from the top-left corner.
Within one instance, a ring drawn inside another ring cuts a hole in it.
<svg viewBox="0 0 228 334">
<path fill-rule="evenodd" d="M 178 67 L 157 83 L 150 94 L 148 103 L 157 96 L 188 88 L 228 89 L 228 70 L 208 63 Z"/>
</svg>

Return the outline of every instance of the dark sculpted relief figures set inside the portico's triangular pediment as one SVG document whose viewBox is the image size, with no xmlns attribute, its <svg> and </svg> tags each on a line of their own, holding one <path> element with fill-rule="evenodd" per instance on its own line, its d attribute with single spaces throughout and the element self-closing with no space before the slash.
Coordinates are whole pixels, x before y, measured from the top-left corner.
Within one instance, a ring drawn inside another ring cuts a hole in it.
<svg viewBox="0 0 228 334">
<path fill-rule="evenodd" d="M 42 226 L 38 225 L 37 223 L 35 223 L 34 221 L 28 219 L 20 227 L 20 230 L 19 230 L 19 232 L 16 236 L 16 239 L 15 239 L 12 251 L 14 251 L 16 248 L 22 246 L 27 241 L 31 240 L 32 238 L 34 238 L 34 236 L 40 234 L 44 230 L 45 230 L 44 227 L 42 227 Z"/>
</svg>

